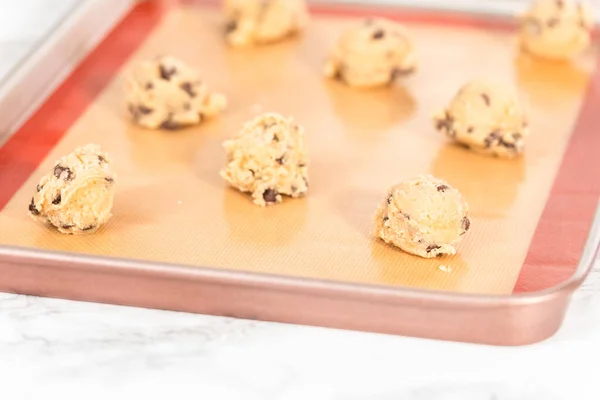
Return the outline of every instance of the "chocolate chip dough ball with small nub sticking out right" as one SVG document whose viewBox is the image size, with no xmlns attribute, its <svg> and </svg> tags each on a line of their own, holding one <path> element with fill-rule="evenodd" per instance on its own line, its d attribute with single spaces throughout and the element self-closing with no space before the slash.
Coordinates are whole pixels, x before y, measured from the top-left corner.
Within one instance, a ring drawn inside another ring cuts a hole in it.
<svg viewBox="0 0 600 400">
<path fill-rule="evenodd" d="M 171 56 L 140 63 L 129 75 L 125 92 L 133 120 L 149 129 L 195 125 L 227 105 L 225 96 L 210 93 L 195 70 Z"/>
</svg>

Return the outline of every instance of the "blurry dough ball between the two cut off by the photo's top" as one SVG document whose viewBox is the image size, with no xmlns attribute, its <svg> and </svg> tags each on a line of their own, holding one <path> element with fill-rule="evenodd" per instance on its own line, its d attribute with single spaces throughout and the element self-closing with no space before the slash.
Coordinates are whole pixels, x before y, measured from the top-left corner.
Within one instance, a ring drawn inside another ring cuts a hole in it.
<svg viewBox="0 0 600 400">
<path fill-rule="evenodd" d="M 393 83 L 416 69 L 406 28 L 386 19 L 367 19 L 345 31 L 325 63 L 324 73 L 349 86 Z"/>
</svg>

